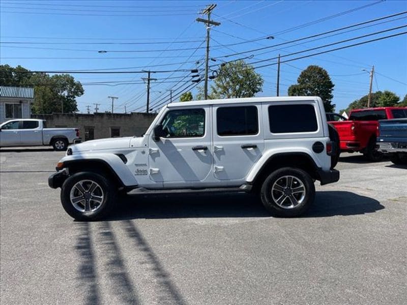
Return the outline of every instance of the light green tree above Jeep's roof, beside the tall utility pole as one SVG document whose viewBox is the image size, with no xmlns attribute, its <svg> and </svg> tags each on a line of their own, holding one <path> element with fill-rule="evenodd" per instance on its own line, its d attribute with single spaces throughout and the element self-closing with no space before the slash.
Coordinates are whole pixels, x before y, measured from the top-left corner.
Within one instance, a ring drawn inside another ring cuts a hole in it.
<svg viewBox="0 0 407 305">
<path fill-rule="evenodd" d="M 244 60 L 237 60 L 220 67 L 214 85 L 211 85 L 211 93 L 208 98 L 250 98 L 261 92 L 263 83 L 263 78 L 254 71 L 252 66 L 246 64 Z M 203 92 L 199 92 L 197 99 L 202 98 Z"/>
</svg>

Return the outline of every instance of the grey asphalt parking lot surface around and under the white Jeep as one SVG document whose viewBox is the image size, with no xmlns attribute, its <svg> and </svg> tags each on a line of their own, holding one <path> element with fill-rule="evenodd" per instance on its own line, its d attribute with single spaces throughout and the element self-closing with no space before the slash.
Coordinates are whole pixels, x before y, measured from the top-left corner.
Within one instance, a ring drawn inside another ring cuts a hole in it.
<svg viewBox="0 0 407 305">
<path fill-rule="evenodd" d="M 64 153 L 0 149 L 2 304 L 406 304 L 407 167 L 343 154 L 302 218 L 247 194 L 137 195 L 76 222 Z"/>
</svg>

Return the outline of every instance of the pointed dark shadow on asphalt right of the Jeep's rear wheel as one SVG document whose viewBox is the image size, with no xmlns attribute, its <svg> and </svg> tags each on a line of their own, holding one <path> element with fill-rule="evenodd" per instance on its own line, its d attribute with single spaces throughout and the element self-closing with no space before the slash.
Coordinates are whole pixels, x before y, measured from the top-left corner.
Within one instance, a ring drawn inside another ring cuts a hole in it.
<svg viewBox="0 0 407 305">
<path fill-rule="evenodd" d="M 314 205 L 303 217 L 363 215 L 384 208 L 379 201 L 352 192 L 316 192 Z"/>
</svg>

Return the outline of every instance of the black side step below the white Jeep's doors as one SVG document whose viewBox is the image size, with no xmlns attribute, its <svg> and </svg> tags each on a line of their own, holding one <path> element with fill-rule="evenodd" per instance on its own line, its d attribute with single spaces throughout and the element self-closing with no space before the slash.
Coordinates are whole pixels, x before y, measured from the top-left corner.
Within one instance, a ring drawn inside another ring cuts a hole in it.
<svg viewBox="0 0 407 305">
<path fill-rule="evenodd" d="M 241 185 L 239 188 L 202 188 L 202 189 L 146 189 L 137 188 L 131 190 L 127 195 L 139 195 L 139 194 L 199 194 L 199 193 L 241 193 L 250 192 L 251 185 Z"/>
</svg>

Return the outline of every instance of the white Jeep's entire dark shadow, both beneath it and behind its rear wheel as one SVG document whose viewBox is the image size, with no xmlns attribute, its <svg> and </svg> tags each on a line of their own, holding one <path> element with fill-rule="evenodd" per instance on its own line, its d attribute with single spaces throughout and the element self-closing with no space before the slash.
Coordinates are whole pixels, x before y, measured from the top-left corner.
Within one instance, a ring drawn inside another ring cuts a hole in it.
<svg viewBox="0 0 407 305">
<path fill-rule="evenodd" d="M 316 192 L 313 206 L 303 217 L 363 215 L 384 208 L 379 201 L 352 192 Z M 270 214 L 257 196 L 246 193 L 132 195 L 121 199 L 108 220 L 212 217 L 270 217 Z"/>
</svg>

